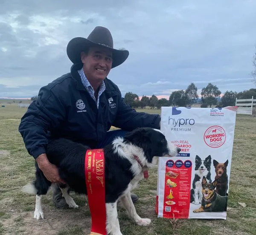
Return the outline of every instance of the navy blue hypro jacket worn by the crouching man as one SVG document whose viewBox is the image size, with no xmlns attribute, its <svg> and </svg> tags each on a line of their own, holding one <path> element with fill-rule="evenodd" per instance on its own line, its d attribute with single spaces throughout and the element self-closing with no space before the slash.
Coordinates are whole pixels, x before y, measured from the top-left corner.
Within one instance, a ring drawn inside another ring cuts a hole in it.
<svg viewBox="0 0 256 235">
<path fill-rule="evenodd" d="M 111 126 L 123 130 L 136 127 L 159 129 L 160 115 L 139 113 L 122 99 L 119 88 L 105 78 L 106 90 L 99 109 L 81 82 L 73 65 L 68 74 L 42 87 L 21 118 L 19 132 L 28 153 L 35 159 L 45 153 L 49 138 L 67 138 L 91 148 L 104 139 Z"/>
</svg>

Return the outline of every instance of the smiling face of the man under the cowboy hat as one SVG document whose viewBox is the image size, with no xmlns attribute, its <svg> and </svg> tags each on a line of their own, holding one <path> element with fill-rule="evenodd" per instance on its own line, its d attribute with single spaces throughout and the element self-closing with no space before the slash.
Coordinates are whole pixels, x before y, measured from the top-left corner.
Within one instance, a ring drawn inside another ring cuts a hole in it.
<svg viewBox="0 0 256 235">
<path fill-rule="evenodd" d="M 92 47 L 87 54 L 81 53 L 84 74 L 88 79 L 103 80 L 112 66 L 112 52 L 108 48 Z"/>
</svg>

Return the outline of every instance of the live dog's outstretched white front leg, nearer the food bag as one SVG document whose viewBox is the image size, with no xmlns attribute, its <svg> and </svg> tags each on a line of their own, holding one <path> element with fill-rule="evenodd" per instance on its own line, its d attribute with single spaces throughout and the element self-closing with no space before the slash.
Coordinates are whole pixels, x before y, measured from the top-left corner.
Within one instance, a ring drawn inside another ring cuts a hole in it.
<svg viewBox="0 0 256 235">
<path fill-rule="evenodd" d="M 151 219 L 147 219 L 147 218 L 142 219 L 137 214 L 134 204 L 131 200 L 131 193 L 127 193 L 123 195 L 120 198 L 120 201 L 122 205 L 125 207 L 125 209 L 127 210 L 129 216 L 135 221 L 136 224 L 146 226 L 151 223 Z"/>
</svg>

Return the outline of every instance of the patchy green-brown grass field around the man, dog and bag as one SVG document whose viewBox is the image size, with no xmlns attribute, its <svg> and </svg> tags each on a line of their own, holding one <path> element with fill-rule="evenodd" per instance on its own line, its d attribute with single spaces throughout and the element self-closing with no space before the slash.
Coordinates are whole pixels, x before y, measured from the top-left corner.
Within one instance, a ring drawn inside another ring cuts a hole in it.
<svg viewBox="0 0 256 235">
<path fill-rule="evenodd" d="M 141 111 L 141 110 L 138 110 Z M 160 112 L 160 110 L 147 110 Z M 17 131 L 25 108 L 0 108 L 0 234 L 2 235 L 81 235 L 90 232 L 90 211 L 85 201 L 73 195 L 78 209 L 59 210 L 49 193 L 43 199 L 45 219 L 33 219 L 35 196 L 21 187 L 34 178 L 34 161 Z M 255 235 L 256 234 L 256 117 L 237 116 L 231 164 L 227 220 L 169 220 L 154 212 L 157 167 L 149 172 L 134 192 L 138 214 L 151 218 L 149 227 L 139 227 L 119 208 L 124 235 Z M 244 203 L 245 207 L 239 203 Z"/>
</svg>

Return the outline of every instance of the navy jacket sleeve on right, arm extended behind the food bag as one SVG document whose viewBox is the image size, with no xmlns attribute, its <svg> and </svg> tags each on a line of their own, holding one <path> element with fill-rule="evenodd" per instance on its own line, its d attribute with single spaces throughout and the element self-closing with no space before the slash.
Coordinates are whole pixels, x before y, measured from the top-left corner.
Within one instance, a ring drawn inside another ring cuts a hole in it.
<svg viewBox="0 0 256 235">
<path fill-rule="evenodd" d="M 137 127 L 160 129 L 159 124 L 161 117 L 159 114 L 136 112 L 130 105 L 125 104 L 120 91 L 118 97 L 118 110 L 113 126 L 129 131 L 134 130 Z"/>
</svg>

